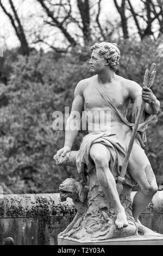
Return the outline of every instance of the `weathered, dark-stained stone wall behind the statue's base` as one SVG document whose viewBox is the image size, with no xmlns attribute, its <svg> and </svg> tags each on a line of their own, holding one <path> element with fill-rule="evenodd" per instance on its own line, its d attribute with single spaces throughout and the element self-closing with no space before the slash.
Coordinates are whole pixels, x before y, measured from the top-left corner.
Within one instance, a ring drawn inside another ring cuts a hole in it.
<svg viewBox="0 0 163 256">
<path fill-rule="evenodd" d="M 57 235 L 75 214 L 72 200 L 61 203 L 59 194 L 1 195 L 0 245 L 8 236 L 16 245 L 57 245 Z M 163 191 L 156 193 L 141 222 L 163 234 Z"/>
</svg>

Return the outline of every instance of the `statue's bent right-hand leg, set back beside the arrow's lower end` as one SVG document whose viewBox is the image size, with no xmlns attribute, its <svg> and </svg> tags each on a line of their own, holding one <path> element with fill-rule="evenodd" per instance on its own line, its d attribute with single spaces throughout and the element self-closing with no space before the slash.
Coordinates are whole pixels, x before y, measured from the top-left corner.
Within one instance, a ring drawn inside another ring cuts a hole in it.
<svg viewBox="0 0 163 256">
<path fill-rule="evenodd" d="M 151 202 L 158 191 L 158 186 L 145 151 L 136 143 L 131 151 L 128 170 L 139 185 L 139 191 L 135 194 L 133 201 L 133 217 L 136 222 L 139 222 L 139 215 Z"/>
</svg>

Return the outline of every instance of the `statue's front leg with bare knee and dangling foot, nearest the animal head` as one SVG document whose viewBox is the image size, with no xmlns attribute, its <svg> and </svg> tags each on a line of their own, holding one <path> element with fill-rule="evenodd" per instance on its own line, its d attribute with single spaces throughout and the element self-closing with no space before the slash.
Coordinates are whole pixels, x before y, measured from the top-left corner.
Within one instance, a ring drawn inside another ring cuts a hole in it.
<svg viewBox="0 0 163 256">
<path fill-rule="evenodd" d="M 110 150 L 103 144 L 95 143 L 91 146 L 90 157 L 95 162 L 98 182 L 103 188 L 106 198 L 112 202 L 116 211 L 115 224 L 118 228 L 127 227 L 126 213 L 118 196 L 114 176 L 109 169 Z"/>
</svg>

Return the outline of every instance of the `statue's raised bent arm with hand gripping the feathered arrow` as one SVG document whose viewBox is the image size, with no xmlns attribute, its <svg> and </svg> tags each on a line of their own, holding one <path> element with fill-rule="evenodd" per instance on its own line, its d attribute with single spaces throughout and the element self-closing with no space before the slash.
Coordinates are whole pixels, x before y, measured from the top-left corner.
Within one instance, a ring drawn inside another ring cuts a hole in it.
<svg viewBox="0 0 163 256">
<path fill-rule="evenodd" d="M 146 112 L 148 114 L 157 114 L 160 108 L 160 102 L 156 99 L 156 96 L 153 94 L 152 90 L 147 87 L 142 87 L 133 82 L 129 81 L 128 84 L 129 96 L 130 99 L 134 102 L 137 95 L 142 95 L 142 99 L 146 102 Z"/>
</svg>

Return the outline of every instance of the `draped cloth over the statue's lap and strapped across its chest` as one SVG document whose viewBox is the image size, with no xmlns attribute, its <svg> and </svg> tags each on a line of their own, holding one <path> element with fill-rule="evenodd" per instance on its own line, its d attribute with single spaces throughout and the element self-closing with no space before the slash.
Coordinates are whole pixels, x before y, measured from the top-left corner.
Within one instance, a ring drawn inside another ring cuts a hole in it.
<svg viewBox="0 0 163 256">
<path fill-rule="evenodd" d="M 118 117 L 121 118 L 123 123 L 130 127 L 132 130 L 134 127 L 134 123 L 137 117 L 137 113 L 139 111 L 139 107 L 141 105 L 141 95 L 138 95 L 135 99 L 133 110 L 131 113 L 131 123 L 127 120 L 127 108 L 124 111 L 120 111 L 114 105 L 114 103 L 110 100 L 109 95 L 100 87 L 98 87 L 95 83 L 95 87 L 99 94 L 103 97 L 103 99 L 108 103 L 108 106 L 114 111 Z M 153 119 L 154 115 L 149 115 L 145 111 L 143 111 L 142 118 L 140 121 L 140 125 L 137 129 L 137 135 L 139 135 L 139 142 L 135 140 L 135 143 L 139 144 L 140 147 L 146 142 L 146 129 L 149 121 Z M 80 149 L 77 153 L 76 157 L 76 165 L 79 173 L 83 172 L 91 172 L 93 168 L 95 168 L 95 163 L 92 161 L 90 157 L 90 148 L 94 143 L 101 143 L 109 148 L 110 150 L 110 163 L 109 168 L 111 170 L 112 175 L 114 175 L 115 180 L 120 175 L 120 170 L 122 167 L 122 163 L 124 161 L 124 157 L 127 153 L 127 145 L 126 142 L 123 141 L 118 135 L 115 133 L 105 133 L 105 132 L 95 132 L 89 133 L 85 137 L 83 137 L 82 142 L 80 144 Z M 129 175 L 127 170 L 126 172 L 126 184 L 133 187 L 136 185 L 135 181 Z"/>
</svg>

